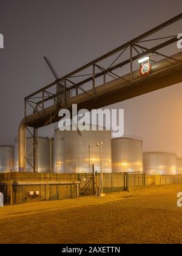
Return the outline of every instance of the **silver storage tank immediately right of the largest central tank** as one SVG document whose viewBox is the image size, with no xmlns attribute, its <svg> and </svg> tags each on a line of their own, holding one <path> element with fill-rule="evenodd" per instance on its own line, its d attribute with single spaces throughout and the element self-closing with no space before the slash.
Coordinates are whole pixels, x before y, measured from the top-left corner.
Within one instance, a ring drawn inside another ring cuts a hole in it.
<svg viewBox="0 0 182 256">
<path fill-rule="evenodd" d="M 143 172 L 143 141 L 141 138 L 112 139 L 112 172 Z"/>
</svg>

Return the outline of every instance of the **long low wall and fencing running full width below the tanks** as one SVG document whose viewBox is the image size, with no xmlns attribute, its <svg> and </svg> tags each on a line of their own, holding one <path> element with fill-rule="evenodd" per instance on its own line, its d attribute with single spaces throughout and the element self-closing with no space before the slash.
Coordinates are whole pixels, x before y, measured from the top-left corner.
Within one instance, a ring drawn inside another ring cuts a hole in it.
<svg viewBox="0 0 182 256">
<path fill-rule="evenodd" d="M 99 186 L 100 177 L 100 174 L 95 176 L 95 187 L 96 185 Z M 6 188 L 4 187 L 6 178 L 7 174 L 0 174 L 0 191 L 4 193 L 5 201 L 9 203 L 10 185 Z M 77 196 L 79 194 L 83 196 L 93 194 L 92 174 L 44 174 L 32 172 L 12 172 L 8 180 L 12 180 L 13 204 L 47 199 L 67 199 L 75 197 L 75 192 Z M 17 182 L 28 182 L 29 185 L 17 185 Z M 36 184 L 33 185 L 34 182 Z M 44 183 L 43 185 L 41 184 L 42 182 Z M 59 184 L 50 184 L 50 182 L 58 182 Z M 75 185 L 75 182 L 79 182 L 79 184 Z M 47 183 L 49 183 L 49 185 L 47 185 Z M 144 185 L 170 185 L 173 183 L 182 183 L 182 175 L 147 176 L 145 174 L 124 173 L 103 174 L 104 192 L 123 191 L 128 187 L 138 187 Z M 30 196 L 30 191 L 34 193 L 33 196 Z M 39 191 L 39 194 L 36 195 L 36 191 Z"/>
</svg>

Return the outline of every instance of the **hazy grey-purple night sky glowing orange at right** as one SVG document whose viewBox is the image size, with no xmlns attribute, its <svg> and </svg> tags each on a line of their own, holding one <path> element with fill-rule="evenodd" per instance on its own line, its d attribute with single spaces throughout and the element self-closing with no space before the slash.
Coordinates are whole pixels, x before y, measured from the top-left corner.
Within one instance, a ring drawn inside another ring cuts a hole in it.
<svg viewBox="0 0 182 256">
<path fill-rule="evenodd" d="M 13 144 L 24 97 L 55 80 L 44 55 L 64 76 L 181 9 L 181 0 L 0 0 L 0 143 Z M 182 157 L 181 84 L 114 107 L 124 108 L 125 133 L 143 137 L 144 151 Z"/>
</svg>

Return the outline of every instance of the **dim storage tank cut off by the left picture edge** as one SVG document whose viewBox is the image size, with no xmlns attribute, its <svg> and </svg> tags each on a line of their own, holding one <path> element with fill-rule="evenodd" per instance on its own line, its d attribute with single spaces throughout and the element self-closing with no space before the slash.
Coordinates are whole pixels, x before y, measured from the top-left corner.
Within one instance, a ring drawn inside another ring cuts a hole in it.
<svg viewBox="0 0 182 256">
<path fill-rule="evenodd" d="M 15 147 L 0 145 L 0 172 L 14 171 Z"/>
</svg>

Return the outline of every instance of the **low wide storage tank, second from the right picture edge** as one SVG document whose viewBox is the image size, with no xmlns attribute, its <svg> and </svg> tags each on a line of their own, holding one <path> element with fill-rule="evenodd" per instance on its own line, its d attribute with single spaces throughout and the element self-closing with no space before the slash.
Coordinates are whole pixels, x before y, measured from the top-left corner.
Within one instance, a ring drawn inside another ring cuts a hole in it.
<svg viewBox="0 0 182 256">
<path fill-rule="evenodd" d="M 175 175 L 176 159 L 174 153 L 145 152 L 143 154 L 144 173 L 147 175 Z"/>
</svg>

